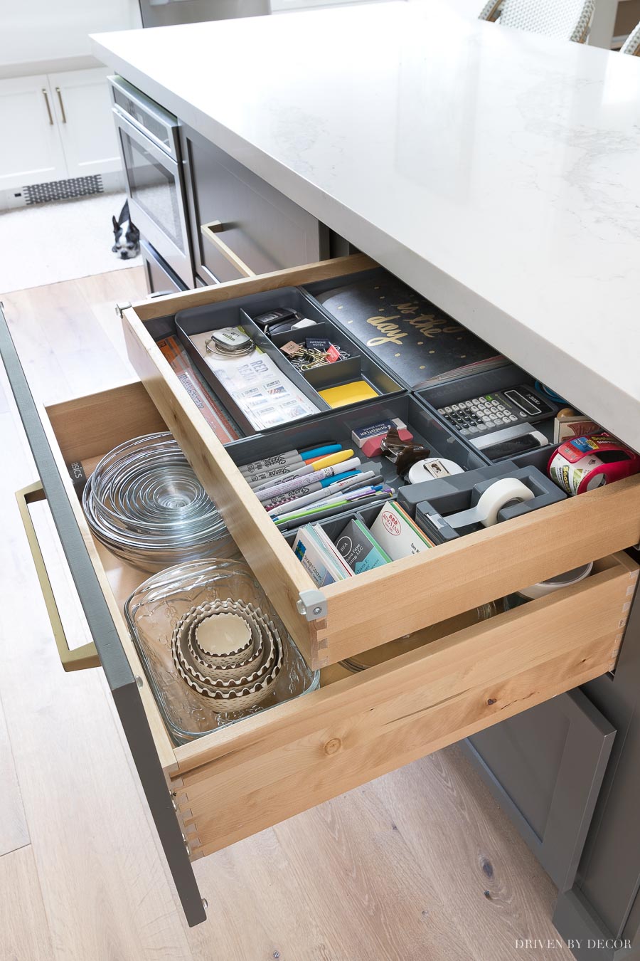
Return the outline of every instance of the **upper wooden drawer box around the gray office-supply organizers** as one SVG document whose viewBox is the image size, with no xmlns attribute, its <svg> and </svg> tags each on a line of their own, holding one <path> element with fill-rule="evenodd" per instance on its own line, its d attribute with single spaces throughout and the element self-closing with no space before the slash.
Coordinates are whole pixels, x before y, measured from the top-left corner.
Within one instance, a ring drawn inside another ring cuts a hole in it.
<svg viewBox="0 0 640 961">
<path fill-rule="evenodd" d="M 640 541 L 640 477 L 467 535 L 322 595 L 251 493 L 224 446 L 178 382 L 149 326 L 177 310 L 282 286 L 313 283 L 374 265 L 362 255 L 327 260 L 136 305 L 124 311 L 131 362 L 155 407 L 220 508 L 309 664 L 324 667 L 405 633 L 486 604 Z M 302 612 L 300 612 L 302 611 Z"/>
</svg>

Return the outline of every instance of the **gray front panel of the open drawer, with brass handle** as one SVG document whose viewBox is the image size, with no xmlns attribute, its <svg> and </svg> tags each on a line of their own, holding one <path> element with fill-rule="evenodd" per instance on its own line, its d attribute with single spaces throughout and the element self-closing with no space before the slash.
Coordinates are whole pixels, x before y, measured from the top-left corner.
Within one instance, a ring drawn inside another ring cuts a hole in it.
<svg viewBox="0 0 640 961">
<path fill-rule="evenodd" d="M 83 542 L 36 404 L 0 310 L 0 357 L 5 365 L 36 468 L 58 530 L 84 615 L 107 677 L 130 752 L 189 925 L 206 919 L 196 877 L 187 855 L 172 799 L 155 751 L 137 684 Z M 123 812 L 126 817 L 126 812 Z"/>
</svg>

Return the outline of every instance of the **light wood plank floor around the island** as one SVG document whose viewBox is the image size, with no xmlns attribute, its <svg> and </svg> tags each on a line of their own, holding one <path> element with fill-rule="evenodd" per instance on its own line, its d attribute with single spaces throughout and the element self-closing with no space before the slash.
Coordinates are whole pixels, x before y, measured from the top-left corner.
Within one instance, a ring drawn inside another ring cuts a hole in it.
<svg viewBox="0 0 640 961">
<path fill-rule="evenodd" d="M 3 298 L 37 398 L 133 379 L 113 304 L 143 283 L 133 268 Z M 516 949 L 557 938 L 556 891 L 455 747 L 196 862 L 209 920 L 190 930 L 104 678 L 57 662 L 12 496 L 36 474 L 4 371 L 0 432 L 1 961 L 570 961 Z"/>
</svg>

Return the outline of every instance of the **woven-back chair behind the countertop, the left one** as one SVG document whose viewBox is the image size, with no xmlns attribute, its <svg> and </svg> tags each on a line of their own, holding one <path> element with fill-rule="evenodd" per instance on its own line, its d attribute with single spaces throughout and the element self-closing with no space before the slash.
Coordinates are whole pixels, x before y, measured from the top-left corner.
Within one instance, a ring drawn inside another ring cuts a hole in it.
<svg viewBox="0 0 640 961">
<path fill-rule="evenodd" d="M 482 20 L 504 27 L 583 43 L 589 34 L 595 0 L 487 0 Z"/>
</svg>

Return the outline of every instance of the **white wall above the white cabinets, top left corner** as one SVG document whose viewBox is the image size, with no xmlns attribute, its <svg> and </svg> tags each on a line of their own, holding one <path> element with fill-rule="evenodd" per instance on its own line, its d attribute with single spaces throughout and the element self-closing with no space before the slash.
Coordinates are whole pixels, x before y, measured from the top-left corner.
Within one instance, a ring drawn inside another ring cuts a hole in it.
<svg viewBox="0 0 640 961">
<path fill-rule="evenodd" d="M 89 34 L 139 26 L 137 0 L 0 0 L 0 64 L 87 56 Z"/>
</svg>

